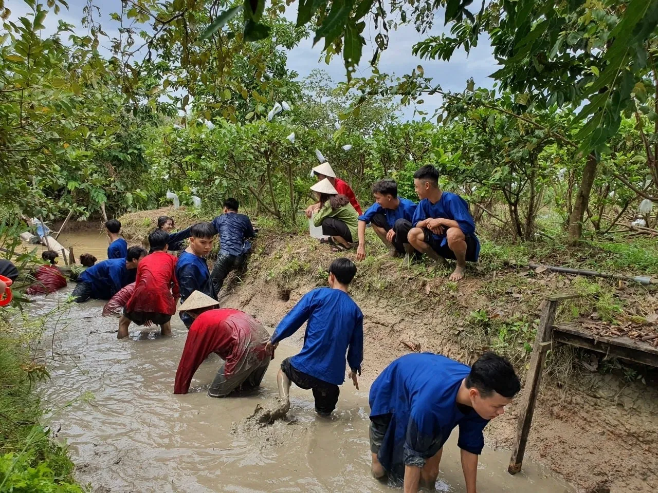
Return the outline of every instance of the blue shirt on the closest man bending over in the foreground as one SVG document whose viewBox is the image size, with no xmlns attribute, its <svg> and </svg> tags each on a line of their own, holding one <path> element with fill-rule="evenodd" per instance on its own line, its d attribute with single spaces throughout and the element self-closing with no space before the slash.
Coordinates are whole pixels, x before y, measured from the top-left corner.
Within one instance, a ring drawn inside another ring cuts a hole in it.
<svg viewBox="0 0 658 493">
<path fill-rule="evenodd" d="M 391 415 L 378 459 L 402 477 L 405 465 L 422 467 L 459 426 L 457 445 L 480 455 L 489 423 L 457 404 L 470 367 L 432 353 L 407 354 L 388 365 L 370 387 L 370 417 Z"/>
</svg>

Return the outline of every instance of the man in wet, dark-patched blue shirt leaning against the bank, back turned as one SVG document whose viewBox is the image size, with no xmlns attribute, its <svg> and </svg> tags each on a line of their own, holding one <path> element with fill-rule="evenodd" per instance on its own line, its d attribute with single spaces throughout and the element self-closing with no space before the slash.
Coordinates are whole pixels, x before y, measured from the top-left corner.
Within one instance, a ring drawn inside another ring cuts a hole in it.
<svg viewBox="0 0 658 493">
<path fill-rule="evenodd" d="M 243 268 L 251 252 L 251 244 L 247 240 L 256 234 L 249 218 L 238 214 L 239 205 L 236 199 L 224 200 L 224 214 L 213 219 L 213 226 L 220 237 L 219 255 L 211 273 L 217 296 L 228 273 Z"/>
</svg>

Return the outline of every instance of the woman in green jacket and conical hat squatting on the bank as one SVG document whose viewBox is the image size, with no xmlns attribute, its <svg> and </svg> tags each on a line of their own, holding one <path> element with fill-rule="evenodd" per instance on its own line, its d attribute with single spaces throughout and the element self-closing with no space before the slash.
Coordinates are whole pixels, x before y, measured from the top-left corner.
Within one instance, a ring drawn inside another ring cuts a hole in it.
<svg viewBox="0 0 658 493">
<path fill-rule="evenodd" d="M 340 195 L 328 179 L 318 181 L 311 187 L 320 199 L 320 210 L 313 216 L 315 226 L 322 225 L 322 234 L 330 236 L 333 252 L 343 252 L 352 247 L 357 238 L 359 214 L 345 195 Z"/>
</svg>

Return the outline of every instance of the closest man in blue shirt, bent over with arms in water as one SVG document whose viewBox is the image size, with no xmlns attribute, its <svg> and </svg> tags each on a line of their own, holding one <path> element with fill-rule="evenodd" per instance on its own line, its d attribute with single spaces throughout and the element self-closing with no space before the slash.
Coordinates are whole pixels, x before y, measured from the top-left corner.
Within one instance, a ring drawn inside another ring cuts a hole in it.
<svg viewBox="0 0 658 493">
<path fill-rule="evenodd" d="M 512 365 L 493 352 L 473 364 L 432 353 L 397 358 L 370 387 L 372 474 L 434 490 L 443 444 L 459 426 L 466 493 L 476 493 L 482 430 L 519 392 Z"/>
</svg>

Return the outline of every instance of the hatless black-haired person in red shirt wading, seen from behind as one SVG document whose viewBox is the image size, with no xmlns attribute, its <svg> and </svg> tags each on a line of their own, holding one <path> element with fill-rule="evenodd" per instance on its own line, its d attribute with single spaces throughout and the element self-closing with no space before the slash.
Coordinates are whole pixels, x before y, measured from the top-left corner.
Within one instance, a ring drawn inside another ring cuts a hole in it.
<svg viewBox="0 0 658 493">
<path fill-rule="evenodd" d="M 130 322 L 137 325 L 160 325 L 161 335 L 171 335 L 171 316 L 176 313 L 178 281 L 176 257 L 167 253 L 168 233 L 155 229 L 149 235 L 153 253 L 139 262 L 135 290 L 119 319 L 117 339 L 128 337 Z"/>
</svg>

